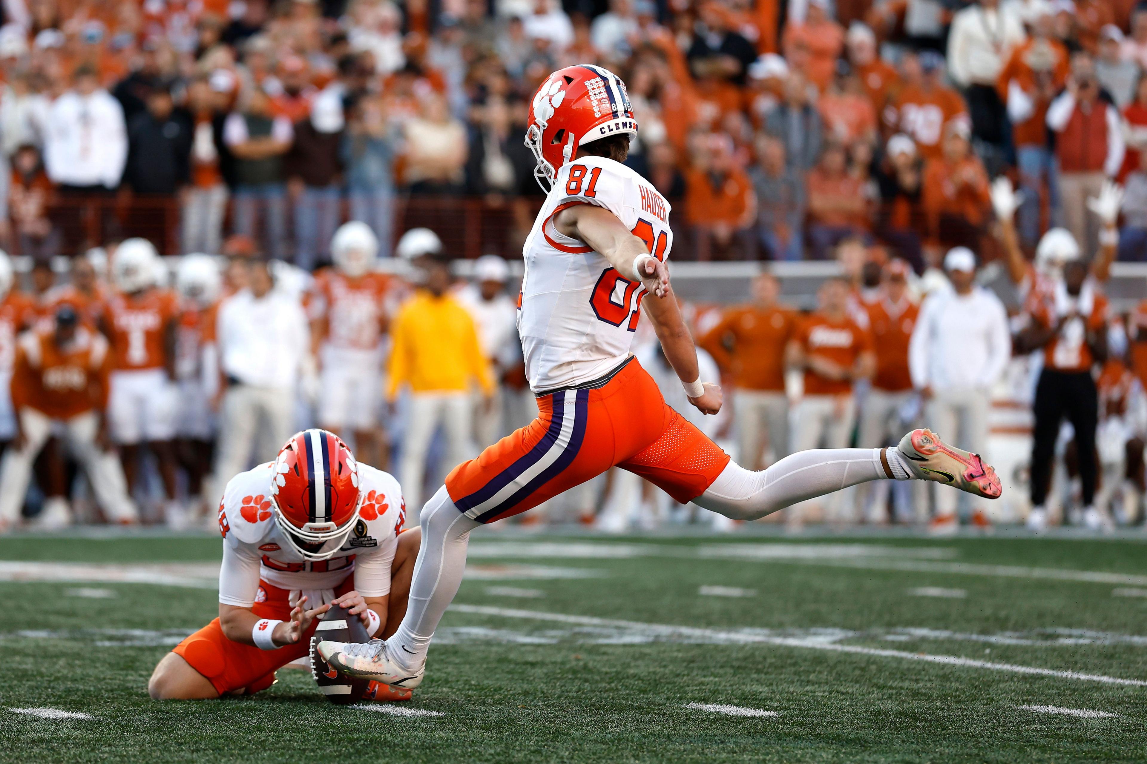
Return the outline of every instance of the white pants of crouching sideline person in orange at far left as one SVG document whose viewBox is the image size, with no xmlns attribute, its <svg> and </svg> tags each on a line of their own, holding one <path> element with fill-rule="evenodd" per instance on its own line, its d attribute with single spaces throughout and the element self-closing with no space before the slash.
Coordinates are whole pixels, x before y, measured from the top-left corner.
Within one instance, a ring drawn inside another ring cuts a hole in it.
<svg viewBox="0 0 1147 764">
<path fill-rule="evenodd" d="M 15 522 L 28 492 L 28 481 L 32 475 L 32 462 L 52 435 L 54 420 L 34 408 L 19 412 L 19 423 L 24 431 L 24 445 L 8 449 L 0 460 L 0 521 Z M 100 429 L 99 415 L 92 411 L 62 422 L 68 445 L 84 467 L 92 484 L 95 500 L 110 522 L 134 522 L 138 520 L 135 505 L 127 496 L 127 481 L 119 459 L 110 451 L 101 450 L 95 443 Z"/>
</svg>

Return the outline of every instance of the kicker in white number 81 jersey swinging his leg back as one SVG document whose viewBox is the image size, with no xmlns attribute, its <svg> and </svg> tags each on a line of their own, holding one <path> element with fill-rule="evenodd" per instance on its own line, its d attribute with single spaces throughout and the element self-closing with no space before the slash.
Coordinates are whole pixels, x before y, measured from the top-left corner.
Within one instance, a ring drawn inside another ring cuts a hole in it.
<svg viewBox="0 0 1147 764">
<path fill-rule="evenodd" d="M 914 430 L 892 449 L 804 451 L 764 471 L 732 462 L 668 406 L 630 352 L 640 315 L 699 411 L 720 388 L 699 381 L 697 356 L 664 263 L 669 203 L 624 166 L 637 122 L 621 78 L 600 67 L 551 75 L 533 98 L 526 146 L 552 185 L 525 241 L 518 327 L 540 415 L 454 468 L 421 513 L 426 544 L 409 607 L 390 639 L 322 641 L 344 672 L 413 688 L 438 621 L 458 592 L 473 529 L 525 512 L 618 466 L 681 502 L 756 520 L 867 481 L 935 480 L 996 498 L 999 478 L 980 457 Z"/>
</svg>

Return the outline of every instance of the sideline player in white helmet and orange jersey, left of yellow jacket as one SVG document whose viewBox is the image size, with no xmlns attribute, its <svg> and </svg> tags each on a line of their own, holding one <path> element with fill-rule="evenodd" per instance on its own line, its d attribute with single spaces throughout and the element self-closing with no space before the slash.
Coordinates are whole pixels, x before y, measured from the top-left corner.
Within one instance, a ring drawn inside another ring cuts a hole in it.
<svg viewBox="0 0 1147 764">
<path fill-rule="evenodd" d="M 333 268 L 314 275 L 307 312 L 319 358 L 319 424 L 354 437 L 367 465 L 384 465 L 379 427 L 382 407 L 382 340 L 390 278 L 374 272 L 379 240 L 365 223 L 351 220 L 330 241 Z"/>
</svg>

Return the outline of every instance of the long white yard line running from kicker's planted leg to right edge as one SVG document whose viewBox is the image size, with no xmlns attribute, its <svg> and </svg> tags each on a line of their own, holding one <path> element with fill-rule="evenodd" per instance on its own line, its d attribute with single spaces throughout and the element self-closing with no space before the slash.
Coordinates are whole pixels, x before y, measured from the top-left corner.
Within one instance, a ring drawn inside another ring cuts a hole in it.
<svg viewBox="0 0 1147 764">
<path fill-rule="evenodd" d="M 812 639 L 798 639 L 789 637 L 768 637 L 765 634 L 743 633 L 734 631 L 721 631 L 717 629 L 702 629 L 699 626 L 674 626 L 670 624 L 641 623 L 639 621 L 619 621 L 614 618 L 596 618 L 592 616 L 567 615 L 563 613 L 543 613 L 538 610 L 517 610 L 513 608 L 496 608 L 482 605 L 452 605 L 452 610 L 459 613 L 470 613 L 474 615 L 487 615 L 502 618 L 530 618 L 535 621 L 553 621 L 557 623 L 571 623 L 584 626 L 622 626 L 635 631 L 647 630 L 657 636 L 684 636 L 684 637 L 707 637 L 718 642 L 729 644 L 764 644 L 778 645 L 781 647 L 796 647 L 802 649 L 829 650 L 833 653 L 848 653 L 852 655 L 871 655 L 876 657 L 900 658 L 904 661 L 922 661 L 924 663 L 938 663 L 942 665 L 954 665 L 966 669 L 985 669 L 989 671 L 1006 671 L 1011 673 L 1025 673 L 1039 677 L 1055 677 L 1058 679 L 1075 679 L 1077 681 L 1098 681 L 1108 685 L 1126 685 L 1131 687 L 1147 687 L 1147 681 L 1142 679 L 1124 679 L 1122 677 L 1108 677 L 1100 673 L 1082 673 L 1078 671 L 1058 671 L 1055 669 L 1043 669 L 1031 665 L 1019 665 L 1015 663 L 994 663 L 992 661 L 977 661 L 959 655 L 930 655 L 927 653 L 907 653 L 905 650 L 889 650 L 874 647 L 860 647 L 857 645 L 837 645 L 835 642 L 817 641 Z"/>
</svg>

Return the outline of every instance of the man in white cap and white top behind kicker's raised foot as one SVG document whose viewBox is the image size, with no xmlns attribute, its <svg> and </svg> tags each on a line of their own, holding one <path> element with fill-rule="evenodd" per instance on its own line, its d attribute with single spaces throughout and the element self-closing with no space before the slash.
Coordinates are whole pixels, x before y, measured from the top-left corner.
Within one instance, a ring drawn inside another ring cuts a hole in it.
<svg viewBox="0 0 1147 764">
<path fill-rule="evenodd" d="M 924 399 L 926 424 L 988 461 L 991 387 L 1012 357 L 1007 311 L 999 297 L 976 286 L 972 250 L 950 251 L 944 270 L 953 288 L 924 301 L 908 343 L 912 384 Z M 934 530 L 955 529 L 957 498 L 951 489 L 936 492 Z"/>
</svg>

